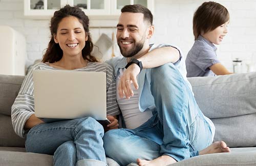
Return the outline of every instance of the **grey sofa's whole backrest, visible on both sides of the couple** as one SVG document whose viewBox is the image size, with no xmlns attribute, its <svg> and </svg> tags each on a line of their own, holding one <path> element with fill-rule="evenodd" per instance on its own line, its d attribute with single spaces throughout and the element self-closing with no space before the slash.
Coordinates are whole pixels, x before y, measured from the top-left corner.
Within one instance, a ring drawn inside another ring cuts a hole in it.
<svg viewBox="0 0 256 166">
<path fill-rule="evenodd" d="M 0 146 L 24 147 L 11 123 L 11 106 L 24 76 L 0 75 Z M 188 78 L 205 116 L 216 126 L 214 141 L 256 147 L 256 72 Z"/>
</svg>

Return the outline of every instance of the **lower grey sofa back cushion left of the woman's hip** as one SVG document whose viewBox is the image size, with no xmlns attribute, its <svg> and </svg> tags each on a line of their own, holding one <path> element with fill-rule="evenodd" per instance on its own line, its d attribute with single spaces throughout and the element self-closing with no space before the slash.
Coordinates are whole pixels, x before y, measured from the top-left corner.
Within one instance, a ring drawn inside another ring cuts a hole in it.
<svg viewBox="0 0 256 166">
<path fill-rule="evenodd" d="M 14 132 L 10 116 L 0 114 L 0 132 L 0 146 L 25 147 L 25 139 Z"/>
</svg>

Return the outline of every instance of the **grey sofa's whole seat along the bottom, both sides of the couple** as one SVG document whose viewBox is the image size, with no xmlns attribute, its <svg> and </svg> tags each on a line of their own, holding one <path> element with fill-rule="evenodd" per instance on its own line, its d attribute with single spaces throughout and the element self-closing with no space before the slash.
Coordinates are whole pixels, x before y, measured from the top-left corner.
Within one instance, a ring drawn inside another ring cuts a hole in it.
<svg viewBox="0 0 256 166">
<path fill-rule="evenodd" d="M 119 166 L 113 159 L 106 158 L 109 166 Z M 53 165 L 51 155 L 27 153 L 25 148 L 0 147 L 0 165 Z M 135 163 L 130 165 L 137 165 Z M 172 166 L 196 165 L 256 165 L 256 147 L 231 148 L 230 153 L 215 153 L 196 156 L 179 161 Z"/>
</svg>

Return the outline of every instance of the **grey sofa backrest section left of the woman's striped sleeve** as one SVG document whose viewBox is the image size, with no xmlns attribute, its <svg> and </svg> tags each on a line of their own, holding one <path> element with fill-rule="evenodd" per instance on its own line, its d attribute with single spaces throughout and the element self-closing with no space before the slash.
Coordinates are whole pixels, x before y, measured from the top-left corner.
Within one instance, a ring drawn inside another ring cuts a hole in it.
<svg viewBox="0 0 256 166">
<path fill-rule="evenodd" d="M 24 78 L 0 74 L 0 146 L 25 147 L 25 139 L 16 135 L 11 122 L 11 106 Z"/>
</svg>

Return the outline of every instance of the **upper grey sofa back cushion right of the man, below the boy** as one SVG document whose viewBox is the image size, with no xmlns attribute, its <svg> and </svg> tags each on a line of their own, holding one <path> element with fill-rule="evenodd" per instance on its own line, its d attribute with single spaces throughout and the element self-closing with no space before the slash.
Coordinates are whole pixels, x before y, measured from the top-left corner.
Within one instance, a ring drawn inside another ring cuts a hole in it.
<svg viewBox="0 0 256 166">
<path fill-rule="evenodd" d="M 256 72 L 188 78 L 208 118 L 256 113 Z"/>
</svg>

